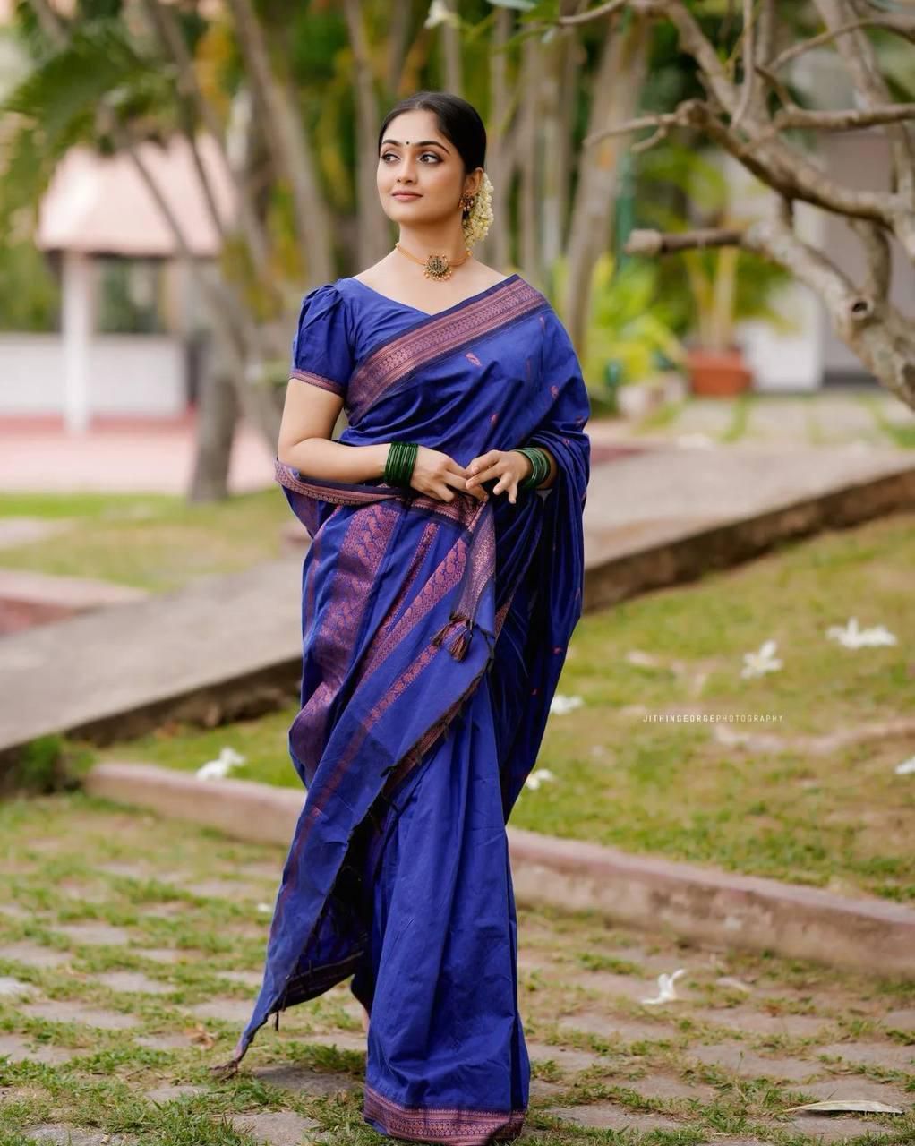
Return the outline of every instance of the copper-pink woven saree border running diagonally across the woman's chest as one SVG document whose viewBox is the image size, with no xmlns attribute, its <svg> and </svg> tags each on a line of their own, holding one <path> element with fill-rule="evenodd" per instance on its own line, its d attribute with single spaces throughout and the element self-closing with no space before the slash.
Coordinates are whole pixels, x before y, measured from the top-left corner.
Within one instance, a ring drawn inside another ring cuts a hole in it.
<svg viewBox="0 0 915 1146">
<path fill-rule="evenodd" d="M 350 425 L 355 426 L 380 398 L 414 370 L 548 306 L 545 295 L 517 278 L 502 291 L 468 303 L 459 311 L 429 315 L 376 346 L 357 363 L 350 377 Z"/>
</svg>

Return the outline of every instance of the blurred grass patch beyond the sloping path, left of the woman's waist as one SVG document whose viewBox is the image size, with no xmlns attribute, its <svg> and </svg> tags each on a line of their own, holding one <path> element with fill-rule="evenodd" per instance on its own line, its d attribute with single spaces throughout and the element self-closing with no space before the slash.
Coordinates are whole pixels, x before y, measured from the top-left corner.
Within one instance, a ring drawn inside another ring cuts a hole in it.
<svg viewBox="0 0 915 1146">
<path fill-rule="evenodd" d="M 210 504 L 148 494 L 5 494 L 3 517 L 68 520 L 70 528 L 0 550 L 0 567 L 154 592 L 276 557 L 282 527 L 295 524 L 279 486 Z"/>
</svg>

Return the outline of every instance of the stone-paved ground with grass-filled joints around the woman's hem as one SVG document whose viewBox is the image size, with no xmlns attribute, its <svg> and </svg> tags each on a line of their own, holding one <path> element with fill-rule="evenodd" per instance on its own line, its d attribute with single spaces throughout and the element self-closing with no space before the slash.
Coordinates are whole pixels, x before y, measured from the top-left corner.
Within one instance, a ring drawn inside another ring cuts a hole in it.
<svg viewBox="0 0 915 1146">
<path fill-rule="evenodd" d="M 259 987 L 277 849 L 79 794 L 0 806 L 0 1143 L 381 1144 L 342 984 L 212 1081 Z M 915 981 L 519 912 L 524 1140 L 915 1141 Z M 682 968 L 677 998 L 651 1003 Z M 791 1112 L 863 1099 L 902 1115 Z M 652 1135 L 665 1131 L 666 1137 Z"/>
</svg>

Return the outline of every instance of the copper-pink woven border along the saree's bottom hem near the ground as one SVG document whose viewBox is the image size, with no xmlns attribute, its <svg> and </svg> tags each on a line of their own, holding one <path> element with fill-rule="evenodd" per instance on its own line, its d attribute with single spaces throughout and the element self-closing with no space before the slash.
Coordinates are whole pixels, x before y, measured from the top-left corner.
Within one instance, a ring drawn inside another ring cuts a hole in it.
<svg viewBox="0 0 915 1146">
<path fill-rule="evenodd" d="M 409 1141 L 448 1143 L 449 1146 L 480 1146 L 487 1141 L 511 1141 L 521 1133 L 526 1107 L 513 1110 L 472 1109 L 462 1106 L 404 1106 L 363 1086 L 363 1116 L 382 1123 L 385 1131 Z"/>
</svg>

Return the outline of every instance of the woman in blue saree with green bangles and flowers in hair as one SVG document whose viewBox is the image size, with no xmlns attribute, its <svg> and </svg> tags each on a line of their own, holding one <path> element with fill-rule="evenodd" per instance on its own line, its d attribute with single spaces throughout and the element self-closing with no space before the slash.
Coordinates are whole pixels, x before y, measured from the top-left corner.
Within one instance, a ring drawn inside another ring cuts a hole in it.
<svg viewBox="0 0 915 1146">
<path fill-rule="evenodd" d="M 470 254 L 485 147 L 463 100 L 398 104 L 377 187 L 399 242 L 302 306 L 276 478 L 312 537 L 289 732 L 307 796 L 260 995 L 216 1068 L 352 976 L 365 1120 L 452 1144 L 516 1138 L 527 1107 L 505 825 L 581 613 L 589 476 L 565 330 Z"/>
</svg>

